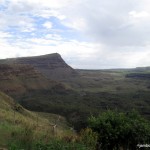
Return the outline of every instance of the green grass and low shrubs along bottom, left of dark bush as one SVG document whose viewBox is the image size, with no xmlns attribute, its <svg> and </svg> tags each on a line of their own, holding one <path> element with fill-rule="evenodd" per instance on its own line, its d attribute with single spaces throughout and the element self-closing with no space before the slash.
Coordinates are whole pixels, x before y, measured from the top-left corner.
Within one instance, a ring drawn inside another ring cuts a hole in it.
<svg viewBox="0 0 150 150">
<path fill-rule="evenodd" d="M 95 150 L 97 143 L 97 134 L 88 128 L 78 136 L 65 134 L 60 137 L 42 132 L 39 135 L 39 132 L 35 133 L 33 126 L 18 127 L 5 122 L 0 125 L 0 131 L 3 131 L 0 135 L 3 144 L 0 143 L 0 147 L 7 147 L 9 150 Z"/>
</svg>

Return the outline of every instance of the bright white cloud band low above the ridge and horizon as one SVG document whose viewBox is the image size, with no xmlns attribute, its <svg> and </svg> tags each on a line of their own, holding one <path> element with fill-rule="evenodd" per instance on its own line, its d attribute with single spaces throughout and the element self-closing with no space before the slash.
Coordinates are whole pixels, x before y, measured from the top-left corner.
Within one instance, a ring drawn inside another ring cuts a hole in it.
<svg viewBox="0 0 150 150">
<path fill-rule="evenodd" d="M 74 68 L 100 69 L 148 66 L 150 63 L 149 48 L 145 51 L 134 52 L 136 47 L 130 47 L 131 51 L 112 50 L 112 48 L 89 42 L 55 41 L 44 39 L 31 39 L 28 41 L 9 45 L 7 41 L 0 40 L 1 58 L 18 56 L 36 56 L 58 52 L 65 61 Z M 42 43 L 42 44 L 40 44 Z M 22 45 L 25 45 L 22 47 Z M 141 47 L 142 49 L 142 47 Z"/>
</svg>

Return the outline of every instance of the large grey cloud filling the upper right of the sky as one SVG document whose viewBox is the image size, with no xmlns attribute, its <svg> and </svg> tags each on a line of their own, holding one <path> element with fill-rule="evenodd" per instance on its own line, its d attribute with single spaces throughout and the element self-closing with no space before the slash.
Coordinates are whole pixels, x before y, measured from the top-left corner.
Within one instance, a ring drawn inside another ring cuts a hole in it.
<svg viewBox="0 0 150 150">
<path fill-rule="evenodd" d="M 150 40 L 150 18 L 137 18 L 134 22 L 129 16 L 131 11 L 144 11 L 143 3 L 146 1 L 86 0 L 69 17 L 84 18 L 87 25 L 84 34 L 97 42 L 112 46 L 145 45 Z"/>
</svg>

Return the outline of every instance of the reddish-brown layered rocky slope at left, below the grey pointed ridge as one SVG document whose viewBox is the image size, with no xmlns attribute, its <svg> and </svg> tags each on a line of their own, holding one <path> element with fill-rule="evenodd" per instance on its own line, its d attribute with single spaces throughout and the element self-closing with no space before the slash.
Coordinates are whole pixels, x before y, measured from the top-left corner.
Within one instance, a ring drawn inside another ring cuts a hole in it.
<svg viewBox="0 0 150 150">
<path fill-rule="evenodd" d="M 56 84 L 57 82 L 46 79 L 30 65 L 0 65 L 0 90 L 9 95 L 50 89 Z"/>
</svg>

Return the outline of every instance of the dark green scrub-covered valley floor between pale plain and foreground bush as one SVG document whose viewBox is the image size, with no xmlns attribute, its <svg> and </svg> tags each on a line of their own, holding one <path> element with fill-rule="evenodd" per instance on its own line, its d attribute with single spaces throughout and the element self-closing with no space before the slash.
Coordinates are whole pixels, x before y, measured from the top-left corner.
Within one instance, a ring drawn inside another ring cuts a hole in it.
<svg viewBox="0 0 150 150">
<path fill-rule="evenodd" d="M 65 116 L 67 121 L 80 130 L 87 126 L 90 114 L 99 114 L 107 109 L 128 112 L 136 109 L 141 115 L 150 118 L 150 92 L 57 92 L 48 90 L 30 91 L 18 97 L 27 109 L 45 111 Z"/>
</svg>

